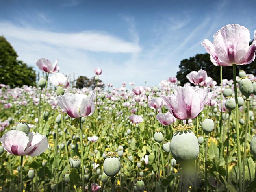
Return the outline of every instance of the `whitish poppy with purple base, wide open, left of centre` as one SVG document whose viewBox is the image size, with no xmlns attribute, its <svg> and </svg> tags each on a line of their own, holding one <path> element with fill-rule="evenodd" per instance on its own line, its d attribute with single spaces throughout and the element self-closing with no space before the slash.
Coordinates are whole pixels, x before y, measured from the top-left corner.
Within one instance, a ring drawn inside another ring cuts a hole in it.
<svg viewBox="0 0 256 192">
<path fill-rule="evenodd" d="M 95 110 L 94 104 L 95 92 L 87 96 L 84 94 L 68 93 L 57 96 L 59 107 L 71 118 L 91 116 Z"/>
</svg>

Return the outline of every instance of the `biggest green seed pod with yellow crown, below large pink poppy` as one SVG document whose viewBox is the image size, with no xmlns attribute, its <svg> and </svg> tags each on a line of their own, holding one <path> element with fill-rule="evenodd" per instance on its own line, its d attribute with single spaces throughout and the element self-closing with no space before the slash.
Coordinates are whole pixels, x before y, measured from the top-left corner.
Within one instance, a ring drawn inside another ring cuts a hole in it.
<svg viewBox="0 0 256 192">
<path fill-rule="evenodd" d="M 197 137 L 190 130 L 193 126 L 173 126 L 176 132 L 171 140 L 171 154 L 180 164 L 197 159 L 199 154 L 199 143 Z"/>
</svg>

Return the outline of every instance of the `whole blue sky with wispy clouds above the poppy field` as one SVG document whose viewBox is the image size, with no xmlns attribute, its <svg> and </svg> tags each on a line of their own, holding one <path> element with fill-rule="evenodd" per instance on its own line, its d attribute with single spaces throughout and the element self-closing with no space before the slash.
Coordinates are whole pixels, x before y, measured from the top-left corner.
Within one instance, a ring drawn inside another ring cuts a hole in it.
<svg viewBox="0 0 256 192">
<path fill-rule="evenodd" d="M 0 35 L 19 59 L 59 59 L 60 72 L 93 76 L 120 87 L 158 85 L 175 76 L 182 59 L 204 53 L 200 44 L 226 24 L 256 30 L 255 1 L 59 0 L 0 6 Z"/>
</svg>

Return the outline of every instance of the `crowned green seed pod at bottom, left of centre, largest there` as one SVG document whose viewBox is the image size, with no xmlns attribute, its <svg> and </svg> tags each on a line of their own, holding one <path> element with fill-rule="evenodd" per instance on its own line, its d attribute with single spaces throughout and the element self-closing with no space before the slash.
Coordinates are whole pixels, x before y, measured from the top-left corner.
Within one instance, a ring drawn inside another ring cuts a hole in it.
<svg viewBox="0 0 256 192">
<path fill-rule="evenodd" d="M 115 176 L 121 168 L 121 163 L 117 158 L 117 153 L 109 152 L 106 159 L 103 162 L 103 169 L 106 175 L 109 177 Z"/>
</svg>

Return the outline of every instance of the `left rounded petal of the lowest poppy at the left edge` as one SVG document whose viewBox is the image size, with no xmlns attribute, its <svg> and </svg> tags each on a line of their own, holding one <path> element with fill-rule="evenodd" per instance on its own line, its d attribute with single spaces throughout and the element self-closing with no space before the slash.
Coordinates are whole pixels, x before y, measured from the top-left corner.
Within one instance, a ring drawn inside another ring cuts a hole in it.
<svg viewBox="0 0 256 192">
<path fill-rule="evenodd" d="M 11 130 L 4 134 L 0 141 L 3 147 L 12 155 L 24 155 L 29 138 L 26 133 L 18 130 Z"/>
</svg>

